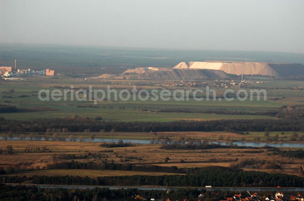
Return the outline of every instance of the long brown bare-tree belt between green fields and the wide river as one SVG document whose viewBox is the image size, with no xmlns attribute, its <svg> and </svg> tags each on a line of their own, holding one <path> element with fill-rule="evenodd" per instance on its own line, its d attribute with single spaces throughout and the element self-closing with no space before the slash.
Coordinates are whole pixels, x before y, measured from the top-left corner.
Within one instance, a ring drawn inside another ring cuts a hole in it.
<svg viewBox="0 0 304 201">
<path fill-rule="evenodd" d="M 92 119 L 33 119 L 33 120 L 2 120 L 0 132 L 46 132 L 48 128 L 67 128 L 70 132 L 91 132 L 115 130 L 118 132 L 158 132 L 158 131 L 226 131 L 243 133 L 247 131 L 304 131 L 301 119 L 230 119 L 194 121 L 179 120 L 172 122 L 118 122 Z"/>
</svg>

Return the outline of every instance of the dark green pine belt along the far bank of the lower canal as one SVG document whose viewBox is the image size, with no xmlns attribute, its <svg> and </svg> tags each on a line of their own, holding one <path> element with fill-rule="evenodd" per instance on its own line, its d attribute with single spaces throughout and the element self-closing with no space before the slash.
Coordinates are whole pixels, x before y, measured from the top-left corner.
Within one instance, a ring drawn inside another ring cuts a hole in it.
<svg viewBox="0 0 304 201">
<path fill-rule="evenodd" d="M 104 176 L 1 176 L 1 183 L 23 183 L 48 185 L 100 185 L 100 186 L 231 186 L 231 187 L 302 187 L 303 178 L 281 173 L 264 173 L 256 171 L 232 170 L 229 168 L 212 168 L 201 170 L 198 174 L 186 175 L 133 175 Z"/>
</svg>

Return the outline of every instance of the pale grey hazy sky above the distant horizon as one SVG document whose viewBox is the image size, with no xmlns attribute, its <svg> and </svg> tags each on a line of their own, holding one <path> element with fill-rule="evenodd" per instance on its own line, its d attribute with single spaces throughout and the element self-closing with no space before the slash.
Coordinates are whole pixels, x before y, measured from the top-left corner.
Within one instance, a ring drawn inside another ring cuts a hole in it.
<svg viewBox="0 0 304 201">
<path fill-rule="evenodd" d="M 303 0 L 0 0 L 0 42 L 304 53 Z"/>
</svg>

